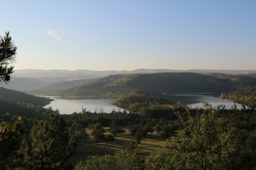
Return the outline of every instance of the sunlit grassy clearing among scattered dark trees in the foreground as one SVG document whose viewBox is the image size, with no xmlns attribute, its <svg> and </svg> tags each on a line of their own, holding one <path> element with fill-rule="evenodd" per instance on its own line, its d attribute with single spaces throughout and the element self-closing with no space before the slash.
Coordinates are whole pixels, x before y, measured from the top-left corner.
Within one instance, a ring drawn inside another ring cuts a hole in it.
<svg viewBox="0 0 256 170">
<path fill-rule="evenodd" d="M 105 135 L 110 134 L 109 128 L 105 129 Z M 87 130 L 90 134 L 89 140 L 78 140 L 77 147 L 74 155 L 72 156 L 72 162 L 76 163 L 79 160 L 86 160 L 88 156 L 92 155 L 104 155 L 104 154 L 114 154 L 116 151 L 122 149 L 126 142 L 134 140 L 134 136 L 125 129 L 125 133 L 118 134 L 115 137 L 115 141 L 110 142 L 95 142 L 93 136 L 91 135 L 92 130 Z M 165 139 L 162 135 L 157 132 L 152 134 L 148 133 L 145 138 L 142 138 L 139 144 L 140 151 L 143 154 L 149 154 L 151 152 L 159 151 L 162 149 L 162 145 Z"/>
</svg>

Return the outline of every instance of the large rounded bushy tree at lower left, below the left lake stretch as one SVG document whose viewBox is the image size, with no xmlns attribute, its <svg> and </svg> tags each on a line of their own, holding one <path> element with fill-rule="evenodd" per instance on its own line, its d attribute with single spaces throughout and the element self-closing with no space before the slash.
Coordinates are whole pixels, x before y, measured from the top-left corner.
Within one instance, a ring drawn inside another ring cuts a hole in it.
<svg viewBox="0 0 256 170">
<path fill-rule="evenodd" d="M 34 169 L 68 169 L 76 139 L 59 115 L 40 120 L 31 130 L 31 153 Z"/>
</svg>

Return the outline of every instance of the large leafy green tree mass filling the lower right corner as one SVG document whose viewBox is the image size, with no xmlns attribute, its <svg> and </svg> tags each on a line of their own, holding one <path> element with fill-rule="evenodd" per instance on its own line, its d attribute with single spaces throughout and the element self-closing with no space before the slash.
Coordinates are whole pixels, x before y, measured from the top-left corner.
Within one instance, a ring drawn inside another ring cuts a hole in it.
<svg viewBox="0 0 256 170">
<path fill-rule="evenodd" d="M 177 169 L 253 169 L 255 135 L 228 128 L 209 105 L 189 115 L 178 137 L 166 147 Z"/>
</svg>

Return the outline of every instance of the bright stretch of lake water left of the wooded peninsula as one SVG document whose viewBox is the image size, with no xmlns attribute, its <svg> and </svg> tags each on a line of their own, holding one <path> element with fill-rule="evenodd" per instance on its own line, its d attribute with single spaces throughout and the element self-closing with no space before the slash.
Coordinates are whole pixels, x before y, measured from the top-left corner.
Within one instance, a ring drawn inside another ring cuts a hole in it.
<svg viewBox="0 0 256 170">
<path fill-rule="evenodd" d="M 53 110 L 58 109 L 60 114 L 72 114 L 73 112 L 81 112 L 82 108 L 86 108 L 87 111 L 100 112 L 104 111 L 107 113 L 113 110 L 118 111 L 118 107 L 112 105 L 115 100 L 111 99 L 62 99 L 59 97 L 48 96 L 50 99 L 54 99 L 45 108 L 52 107 Z M 122 109 L 121 109 L 122 111 Z"/>
</svg>

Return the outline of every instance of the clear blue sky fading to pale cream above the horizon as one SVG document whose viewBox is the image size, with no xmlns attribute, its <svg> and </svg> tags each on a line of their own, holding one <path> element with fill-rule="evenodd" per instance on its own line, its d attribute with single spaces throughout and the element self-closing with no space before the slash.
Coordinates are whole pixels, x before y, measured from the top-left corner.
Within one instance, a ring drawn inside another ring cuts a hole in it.
<svg viewBox="0 0 256 170">
<path fill-rule="evenodd" d="M 256 69 L 255 0 L 0 3 L 14 69 Z"/>
</svg>

